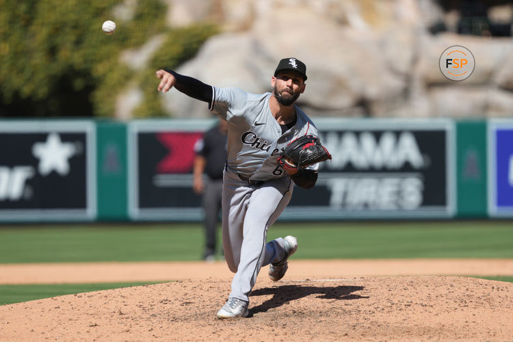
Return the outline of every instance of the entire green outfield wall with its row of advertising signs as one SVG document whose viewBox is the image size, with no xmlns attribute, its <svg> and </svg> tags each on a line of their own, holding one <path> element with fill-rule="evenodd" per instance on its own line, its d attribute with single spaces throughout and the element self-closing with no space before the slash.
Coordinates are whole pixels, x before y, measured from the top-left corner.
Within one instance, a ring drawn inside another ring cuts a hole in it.
<svg viewBox="0 0 513 342">
<path fill-rule="evenodd" d="M 315 123 L 333 159 L 280 220 L 513 217 L 513 120 Z M 0 121 L 0 222 L 199 222 L 194 144 L 213 124 Z"/>
</svg>

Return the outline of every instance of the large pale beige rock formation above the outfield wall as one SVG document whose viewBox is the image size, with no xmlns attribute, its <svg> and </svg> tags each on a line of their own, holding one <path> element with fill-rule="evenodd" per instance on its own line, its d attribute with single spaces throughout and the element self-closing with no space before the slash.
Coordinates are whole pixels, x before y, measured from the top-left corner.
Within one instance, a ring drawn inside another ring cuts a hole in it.
<svg viewBox="0 0 513 342">
<path fill-rule="evenodd" d="M 312 116 L 507 116 L 513 107 L 511 39 L 431 35 L 430 25 L 451 21 L 455 29 L 458 19 L 434 0 L 166 2 L 172 27 L 213 21 L 223 29 L 179 73 L 213 86 L 262 93 L 271 90 L 278 60 L 298 57 L 308 74 L 298 104 Z M 132 53 L 128 60 L 139 61 L 132 67 L 140 68 L 157 43 L 124 56 Z M 475 70 L 464 81 L 440 72 L 440 55 L 453 45 L 475 57 Z M 160 98 L 170 116 L 211 115 L 205 103 L 176 90 Z"/>
</svg>

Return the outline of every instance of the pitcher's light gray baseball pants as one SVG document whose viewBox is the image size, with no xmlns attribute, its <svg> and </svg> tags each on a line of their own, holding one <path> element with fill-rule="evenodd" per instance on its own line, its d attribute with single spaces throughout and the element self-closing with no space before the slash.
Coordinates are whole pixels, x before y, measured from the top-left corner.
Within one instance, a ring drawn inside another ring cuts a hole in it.
<svg viewBox="0 0 513 342">
<path fill-rule="evenodd" d="M 267 230 L 289 204 L 293 183 L 289 177 L 267 181 L 261 186 L 242 181 L 226 167 L 222 194 L 224 258 L 235 273 L 230 297 L 249 302 L 248 295 L 261 267 L 285 257 L 280 237 L 267 241 Z"/>
</svg>

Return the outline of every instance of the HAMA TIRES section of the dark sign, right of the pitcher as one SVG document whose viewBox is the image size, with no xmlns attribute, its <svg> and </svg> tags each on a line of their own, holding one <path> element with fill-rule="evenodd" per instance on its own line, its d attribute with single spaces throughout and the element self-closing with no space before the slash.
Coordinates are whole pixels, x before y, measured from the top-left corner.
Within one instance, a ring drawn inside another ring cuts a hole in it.
<svg viewBox="0 0 513 342">
<path fill-rule="evenodd" d="M 295 187 L 283 219 L 449 218 L 455 210 L 448 120 L 315 120 L 332 161 Z"/>
</svg>

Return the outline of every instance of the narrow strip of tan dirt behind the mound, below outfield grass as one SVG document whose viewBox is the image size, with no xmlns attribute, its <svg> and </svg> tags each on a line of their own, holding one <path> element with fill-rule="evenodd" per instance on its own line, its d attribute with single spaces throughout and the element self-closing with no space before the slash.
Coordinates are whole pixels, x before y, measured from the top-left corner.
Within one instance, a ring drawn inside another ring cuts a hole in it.
<svg viewBox="0 0 513 342">
<path fill-rule="evenodd" d="M 513 276 L 513 259 L 293 260 L 287 272 L 288 278 L 295 279 L 434 275 Z M 0 264 L 0 285 L 149 282 L 231 277 L 224 261 Z"/>
</svg>

